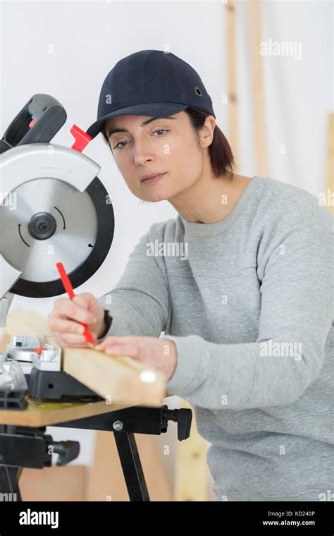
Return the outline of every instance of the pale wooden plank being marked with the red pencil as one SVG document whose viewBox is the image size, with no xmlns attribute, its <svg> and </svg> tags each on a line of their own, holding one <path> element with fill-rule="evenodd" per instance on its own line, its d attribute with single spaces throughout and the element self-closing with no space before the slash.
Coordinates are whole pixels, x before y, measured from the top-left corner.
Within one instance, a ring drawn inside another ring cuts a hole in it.
<svg viewBox="0 0 334 536">
<path fill-rule="evenodd" d="M 125 355 L 63 348 L 63 370 L 112 403 L 160 406 L 166 396 L 162 374 Z"/>
</svg>

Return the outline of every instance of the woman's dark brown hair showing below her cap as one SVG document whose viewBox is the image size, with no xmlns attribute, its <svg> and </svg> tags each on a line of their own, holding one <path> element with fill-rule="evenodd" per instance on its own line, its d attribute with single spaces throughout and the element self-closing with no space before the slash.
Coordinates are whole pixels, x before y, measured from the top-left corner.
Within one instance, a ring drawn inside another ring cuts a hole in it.
<svg viewBox="0 0 334 536">
<path fill-rule="evenodd" d="M 185 109 L 185 112 L 189 116 L 190 124 L 198 136 L 199 130 L 201 130 L 202 126 L 204 125 L 205 118 L 210 114 L 208 114 L 206 111 L 192 108 L 190 106 Z M 104 128 L 102 128 L 101 134 L 104 138 L 104 141 L 111 149 L 111 145 L 106 137 L 106 131 Z M 111 152 L 113 153 L 112 150 Z M 225 178 L 226 176 L 230 179 L 230 181 L 232 181 L 233 172 L 235 170 L 235 159 L 230 144 L 218 125 L 216 125 L 214 128 L 214 138 L 212 138 L 211 145 L 209 145 L 209 155 L 214 176 L 216 176 L 216 178 L 222 176 Z"/>
</svg>

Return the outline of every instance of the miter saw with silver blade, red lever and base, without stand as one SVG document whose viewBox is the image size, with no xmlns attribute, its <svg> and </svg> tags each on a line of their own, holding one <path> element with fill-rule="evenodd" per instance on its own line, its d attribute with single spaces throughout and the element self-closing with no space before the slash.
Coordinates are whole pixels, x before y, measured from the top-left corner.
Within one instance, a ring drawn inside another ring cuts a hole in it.
<svg viewBox="0 0 334 536">
<path fill-rule="evenodd" d="M 97 272 L 111 247 L 113 206 L 97 177 L 100 166 L 82 154 L 92 138 L 73 125 L 72 147 L 49 143 L 65 121 L 66 111 L 54 97 L 33 95 L 0 140 L 0 327 L 16 294 L 64 293 L 56 262 L 65 264 L 76 288 Z M 0 353 L 0 378 L 2 372 L 14 382 L 17 363 L 27 385 L 22 377 L 11 389 L 0 384 L 2 408 L 23 408 L 27 386 L 35 398 L 100 399 L 61 371 L 58 346 L 12 336 Z"/>
</svg>

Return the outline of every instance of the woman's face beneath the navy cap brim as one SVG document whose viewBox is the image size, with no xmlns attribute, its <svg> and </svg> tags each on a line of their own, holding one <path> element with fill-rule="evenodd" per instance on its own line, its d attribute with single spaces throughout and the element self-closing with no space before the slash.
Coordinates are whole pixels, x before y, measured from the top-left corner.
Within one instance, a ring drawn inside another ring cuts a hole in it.
<svg viewBox="0 0 334 536">
<path fill-rule="evenodd" d="M 202 144 L 197 138 L 185 111 L 154 120 L 139 115 L 111 117 L 104 128 L 116 165 L 139 199 L 171 199 L 190 188 L 202 174 L 203 148 L 210 144 L 207 140 Z M 142 182 L 150 173 L 164 174 L 159 181 Z"/>
</svg>

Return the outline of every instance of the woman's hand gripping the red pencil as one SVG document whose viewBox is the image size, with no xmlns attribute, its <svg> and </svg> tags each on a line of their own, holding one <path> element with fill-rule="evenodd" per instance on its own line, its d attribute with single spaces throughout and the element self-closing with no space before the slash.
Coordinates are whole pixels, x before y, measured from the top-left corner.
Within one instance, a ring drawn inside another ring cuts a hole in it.
<svg viewBox="0 0 334 536">
<path fill-rule="evenodd" d="M 78 294 L 70 298 L 57 298 L 54 308 L 48 315 L 48 325 L 58 346 L 89 348 L 84 336 L 87 324 L 94 342 L 104 328 L 104 310 L 92 294 Z"/>
</svg>

